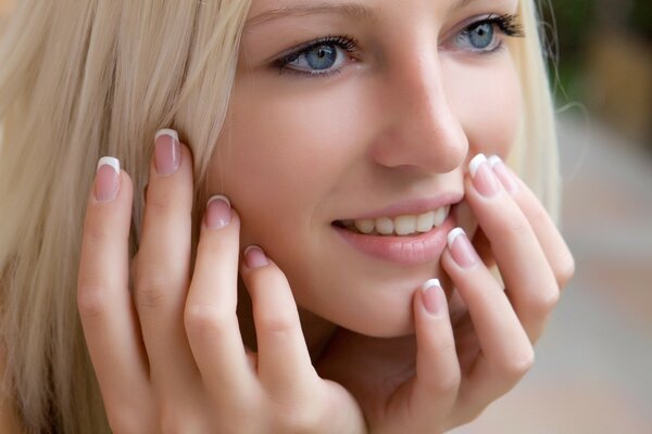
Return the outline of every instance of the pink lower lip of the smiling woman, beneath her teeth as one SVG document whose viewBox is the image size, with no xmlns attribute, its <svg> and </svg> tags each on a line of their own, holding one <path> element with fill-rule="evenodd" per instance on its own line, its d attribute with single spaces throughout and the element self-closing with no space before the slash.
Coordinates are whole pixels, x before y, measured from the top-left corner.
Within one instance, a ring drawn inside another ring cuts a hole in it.
<svg viewBox="0 0 652 434">
<path fill-rule="evenodd" d="M 333 226 L 359 252 L 402 266 L 418 266 L 438 259 L 446 247 L 448 233 L 454 227 L 454 213 L 431 231 L 411 237 L 365 235 Z"/>
</svg>

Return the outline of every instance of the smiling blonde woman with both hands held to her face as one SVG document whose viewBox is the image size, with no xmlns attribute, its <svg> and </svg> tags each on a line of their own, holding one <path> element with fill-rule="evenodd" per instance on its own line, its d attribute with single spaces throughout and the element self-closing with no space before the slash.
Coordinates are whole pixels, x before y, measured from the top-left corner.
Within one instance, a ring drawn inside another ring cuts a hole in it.
<svg viewBox="0 0 652 434">
<path fill-rule="evenodd" d="M 7 430 L 443 432 L 531 367 L 532 0 L 26 0 L 0 56 Z"/>
</svg>

